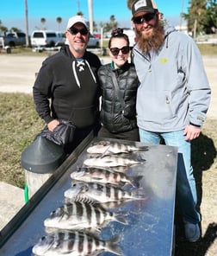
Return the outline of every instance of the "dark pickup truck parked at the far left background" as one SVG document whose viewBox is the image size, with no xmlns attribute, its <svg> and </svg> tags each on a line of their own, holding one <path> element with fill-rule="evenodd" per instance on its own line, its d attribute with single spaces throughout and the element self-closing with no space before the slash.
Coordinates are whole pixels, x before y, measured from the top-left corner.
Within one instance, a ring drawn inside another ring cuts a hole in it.
<svg viewBox="0 0 217 256">
<path fill-rule="evenodd" d="M 8 32 L 6 35 L 0 36 L 0 42 L 2 48 L 9 46 L 14 48 L 15 46 L 22 46 L 26 44 L 26 34 L 22 32 Z"/>
</svg>

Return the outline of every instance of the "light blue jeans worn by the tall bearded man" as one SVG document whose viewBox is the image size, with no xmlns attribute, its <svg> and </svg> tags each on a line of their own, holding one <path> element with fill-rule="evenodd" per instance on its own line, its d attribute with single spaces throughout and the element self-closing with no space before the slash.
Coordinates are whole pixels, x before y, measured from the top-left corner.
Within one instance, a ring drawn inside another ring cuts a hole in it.
<svg viewBox="0 0 217 256">
<path fill-rule="evenodd" d="M 159 144 L 161 138 L 169 146 L 178 147 L 177 161 L 177 203 L 183 214 L 183 221 L 198 223 L 200 214 L 196 211 L 196 187 L 191 166 L 190 142 L 183 136 L 183 130 L 171 132 L 152 132 L 140 128 L 140 142 Z"/>
</svg>

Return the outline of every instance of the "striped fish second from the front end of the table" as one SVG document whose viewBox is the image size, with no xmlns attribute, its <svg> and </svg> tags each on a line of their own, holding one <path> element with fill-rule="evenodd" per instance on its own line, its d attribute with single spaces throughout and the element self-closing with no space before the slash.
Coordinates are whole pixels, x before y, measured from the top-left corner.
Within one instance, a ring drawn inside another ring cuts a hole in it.
<svg viewBox="0 0 217 256">
<path fill-rule="evenodd" d="M 101 227 L 105 227 L 109 221 L 118 221 L 127 224 L 121 213 L 112 213 L 86 202 L 71 202 L 54 210 L 44 221 L 45 227 L 60 230 L 84 230 L 91 229 L 99 233 Z"/>
</svg>

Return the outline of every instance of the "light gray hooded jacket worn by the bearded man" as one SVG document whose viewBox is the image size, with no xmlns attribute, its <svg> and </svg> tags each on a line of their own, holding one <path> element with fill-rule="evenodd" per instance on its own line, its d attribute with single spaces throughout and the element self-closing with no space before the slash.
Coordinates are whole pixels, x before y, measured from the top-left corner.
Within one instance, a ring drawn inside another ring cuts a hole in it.
<svg viewBox="0 0 217 256">
<path fill-rule="evenodd" d="M 202 57 L 189 35 L 165 27 L 162 48 L 143 54 L 133 48 L 140 80 L 136 110 L 138 126 L 147 131 L 180 131 L 202 126 L 210 102 L 210 86 Z"/>
</svg>

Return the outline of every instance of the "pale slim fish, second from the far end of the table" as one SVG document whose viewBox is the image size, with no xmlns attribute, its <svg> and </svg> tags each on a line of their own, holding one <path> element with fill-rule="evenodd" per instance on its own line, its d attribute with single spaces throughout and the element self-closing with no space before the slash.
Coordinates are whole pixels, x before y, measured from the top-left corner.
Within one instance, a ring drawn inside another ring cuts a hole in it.
<svg viewBox="0 0 217 256">
<path fill-rule="evenodd" d="M 144 160 L 143 160 L 144 161 Z M 84 160 L 84 164 L 87 166 L 101 166 L 101 167 L 115 167 L 115 166 L 130 166 L 133 164 L 139 164 L 139 161 L 134 161 L 125 157 L 92 157 Z"/>
</svg>

